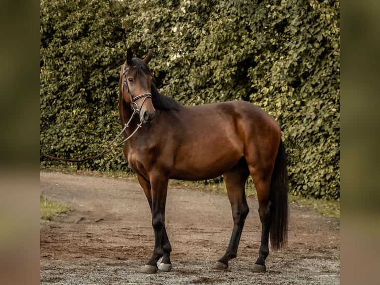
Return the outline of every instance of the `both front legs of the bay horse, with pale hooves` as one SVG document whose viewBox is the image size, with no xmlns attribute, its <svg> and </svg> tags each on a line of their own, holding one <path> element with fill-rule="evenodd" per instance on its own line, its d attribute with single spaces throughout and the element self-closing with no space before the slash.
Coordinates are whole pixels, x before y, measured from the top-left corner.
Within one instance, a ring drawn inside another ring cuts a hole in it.
<svg viewBox="0 0 380 285">
<path fill-rule="evenodd" d="M 142 272 L 156 273 L 158 269 L 161 271 L 170 271 L 172 270 L 172 264 L 170 262 L 170 252 L 172 251 L 172 247 L 165 228 L 165 205 L 168 191 L 168 179 L 153 177 L 149 183 L 144 178 L 140 177 L 139 182 L 144 189 L 152 211 L 152 225 L 154 229 L 153 254 L 149 262 L 144 266 Z M 150 191 L 146 191 L 145 189 Z M 157 267 L 157 262 L 161 257 L 162 260 L 160 266 Z"/>
</svg>

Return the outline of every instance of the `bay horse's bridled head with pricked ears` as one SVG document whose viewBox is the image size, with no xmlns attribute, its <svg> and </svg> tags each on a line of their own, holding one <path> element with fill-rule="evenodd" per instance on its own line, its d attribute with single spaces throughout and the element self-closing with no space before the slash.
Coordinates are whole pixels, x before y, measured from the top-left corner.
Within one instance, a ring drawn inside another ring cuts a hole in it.
<svg viewBox="0 0 380 285">
<path fill-rule="evenodd" d="M 152 51 L 140 60 L 133 58 L 130 48 L 127 51 L 127 60 L 120 71 L 121 92 L 124 101 L 140 115 L 142 123 L 150 123 L 156 110 L 153 107 L 150 85 L 153 75 L 147 64 L 152 58 Z"/>
</svg>

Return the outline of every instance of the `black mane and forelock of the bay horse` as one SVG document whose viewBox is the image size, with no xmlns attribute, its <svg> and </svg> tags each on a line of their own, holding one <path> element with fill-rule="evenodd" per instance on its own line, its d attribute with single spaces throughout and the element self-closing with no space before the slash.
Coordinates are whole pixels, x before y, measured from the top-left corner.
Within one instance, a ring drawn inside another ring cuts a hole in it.
<svg viewBox="0 0 380 285">
<path fill-rule="evenodd" d="M 153 77 L 152 72 L 149 70 L 148 66 L 138 58 L 133 58 L 130 66 L 136 67 L 137 76 L 148 77 L 148 75 L 150 75 Z M 179 102 L 158 92 L 156 85 L 154 85 L 153 82 L 150 84 L 150 89 L 153 97 L 152 99 L 154 108 L 175 111 L 180 111 L 182 109 L 183 105 L 181 105 Z"/>
</svg>

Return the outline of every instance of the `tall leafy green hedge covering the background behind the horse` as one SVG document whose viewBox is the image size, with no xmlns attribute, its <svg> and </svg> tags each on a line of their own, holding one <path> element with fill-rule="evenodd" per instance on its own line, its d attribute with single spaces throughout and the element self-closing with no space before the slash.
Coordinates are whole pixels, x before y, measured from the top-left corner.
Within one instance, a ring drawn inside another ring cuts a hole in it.
<svg viewBox="0 0 380 285">
<path fill-rule="evenodd" d="M 281 125 L 295 195 L 339 199 L 339 1 L 41 1 L 41 148 L 79 158 L 120 129 L 127 47 L 188 105 L 246 100 Z M 54 162 L 42 158 L 42 163 Z M 78 167 L 127 169 L 122 150 Z"/>
</svg>

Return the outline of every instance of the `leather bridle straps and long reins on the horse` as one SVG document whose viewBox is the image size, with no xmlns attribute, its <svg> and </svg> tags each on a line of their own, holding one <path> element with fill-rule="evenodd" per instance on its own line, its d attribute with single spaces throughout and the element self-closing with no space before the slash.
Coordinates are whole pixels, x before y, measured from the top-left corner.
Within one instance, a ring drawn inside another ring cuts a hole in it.
<svg viewBox="0 0 380 285">
<path fill-rule="evenodd" d="M 117 147 L 121 146 L 123 143 L 127 142 L 127 141 L 128 141 L 128 140 L 129 140 L 129 139 L 130 139 L 130 138 L 131 138 L 131 137 L 137 132 L 137 130 L 138 130 L 139 128 L 142 127 L 142 122 L 141 122 L 141 120 L 140 120 L 140 123 L 137 124 L 136 129 L 134 129 L 134 131 L 133 131 L 133 132 L 132 132 L 132 133 L 131 133 L 126 139 L 124 139 L 123 142 L 118 143 L 118 144 L 115 145 L 115 146 L 112 146 L 112 144 L 115 143 L 115 141 L 116 141 L 118 138 L 120 138 L 120 136 L 123 135 L 124 131 L 128 128 L 129 123 L 132 121 L 134 115 L 135 115 L 136 113 L 137 113 L 137 114 L 140 113 L 140 110 L 141 110 L 141 108 L 142 108 L 142 105 L 144 105 L 145 100 L 146 100 L 147 98 L 152 98 L 152 94 L 151 94 L 151 93 L 140 94 L 140 95 L 138 95 L 138 96 L 136 96 L 136 97 L 133 98 L 132 94 L 131 94 L 130 91 L 129 91 L 128 83 L 127 83 L 127 77 L 126 77 L 126 72 L 129 71 L 131 68 L 136 68 L 136 67 L 134 66 L 134 67 L 130 67 L 130 68 L 127 68 L 127 69 L 126 69 L 125 66 L 124 66 L 124 69 L 123 69 L 124 84 L 123 84 L 122 95 L 124 94 L 124 87 L 126 87 L 127 92 L 128 92 L 128 95 L 129 95 L 129 97 L 130 97 L 130 101 L 131 101 L 131 103 L 132 103 L 131 108 L 132 108 L 132 110 L 133 110 L 133 113 L 132 113 L 132 115 L 130 116 L 130 119 L 129 119 L 128 123 L 127 123 L 127 124 L 124 124 L 124 128 L 123 128 L 123 130 L 122 130 L 122 131 L 116 136 L 115 139 L 112 140 L 111 143 L 109 143 L 109 144 L 107 145 L 107 147 L 106 147 L 105 149 L 103 149 L 102 152 L 100 152 L 99 154 L 96 154 L 96 155 L 94 155 L 94 156 L 86 157 L 86 158 L 83 158 L 83 159 L 69 159 L 69 158 L 55 157 L 55 156 L 48 155 L 48 154 L 46 154 L 46 153 L 44 153 L 44 152 L 42 152 L 42 151 L 41 151 L 41 154 L 42 154 L 43 156 L 48 157 L 48 158 L 53 159 L 53 160 L 62 160 L 62 161 L 67 161 L 67 162 L 83 162 L 83 161 L 88 161 L 88 160 L 92 160 L 92 159 L 98 158 L 99 156 L 102 156 L 102 155 L 104 155 L 104 154 L 106 154 L 106 153 L 109 153 L 110 151 L 112 151 L 112 150 L 116 149 Z M 135 101 L 136 101 L 137 99 L 139 99 L 139 98 L 142 98 L 142 97 L 145 97 L 145 98 L 144 98 L 144 100 L 143 100 L 142 103 L 141 103 L 141 107 L 139 108 L 138 105 L 137 105 L 137 103 L 136 103 Z"/>
</svg>

